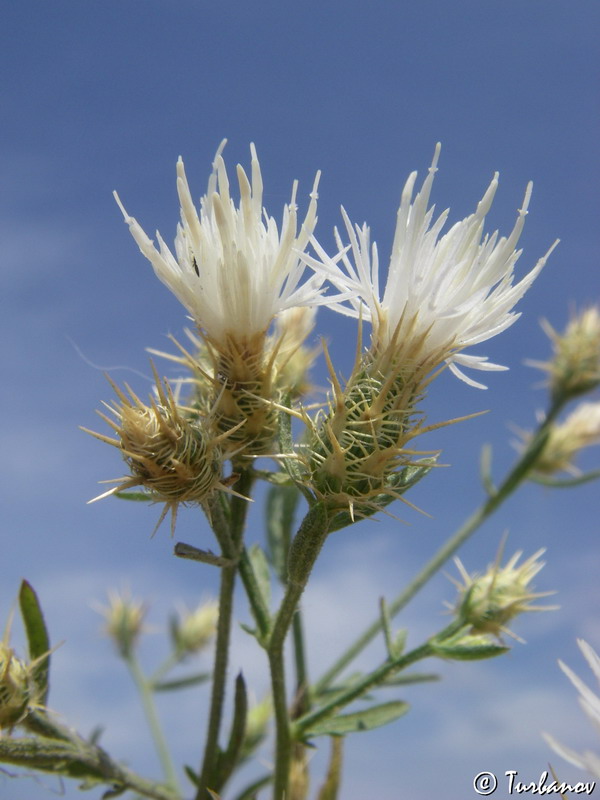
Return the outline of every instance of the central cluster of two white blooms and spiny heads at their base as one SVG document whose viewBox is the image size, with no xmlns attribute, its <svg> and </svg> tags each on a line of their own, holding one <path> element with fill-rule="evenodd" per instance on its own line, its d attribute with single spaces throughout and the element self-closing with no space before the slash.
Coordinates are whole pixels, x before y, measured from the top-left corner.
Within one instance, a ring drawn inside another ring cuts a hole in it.
<svg viewBox="0 0 600 800">
<path fill-rule="evenodd" d="M 278 227 L 262 207 L 254 146 L 250 179 L 237 167 L 236 204 L 224 144 L 199 209 L 178 161 L 181 221 L 174 252 L 158 233 L 155 246 L 117 197 L 133 238 L 192 316 L 196 333 L 190 334 L 195 352 L 178 345 L 179 354 L 171 356 L 192 373 L 187 410 L 159 381 L 159 401 L 150 406 L 131 391 L 129 397 L 118 392 L 121 404 L 111 408 L 117 422 L 107 419 L 118 439 L 99 438 L 121 448 L 131 476 L 111 492 L 141 484 L 166 504 L 165 513 L 175 511 L 180 502 L 202 504 L 215 489 L 227 488 L 224 459 L 230 458 L 235 470 L 249 456 L 275 454 L 281 404 L 284 398 L 301 399 L 308 388 L 316 351 L 306 341 L 316 307 L 326 304 L 357 317 L 360 330 L 370 323 L 370 344 L 363 350 L 359 335 L 354 369 L 344 387 L 327 357 L 330 399 L 314 417 L 303 408 L 296 412 L 307 425 L 307 441 L 298 452 L 281 457 L 299 459 L 295 479 L 334 514 L 366 516 L 403 495 L 435 460 L 421 460 L 415 467 L 414 456 L 424 454 L 409 444 L 432 428 L 424 424 L 419 403 L 437 372 L 447 365 L 479 386 L 460 368 L 503 369 L 464 351 L 517 319 L 513 307 L 549 255 L 515 282 L 521 252 L 516 247 L 531 185 L 507 237 L 483 232 L 497 175 L 475 212 L 443 234 L 448 212 L 434 219 L 429 207 L 438 145 L 414 199 L 416 173 L 405 185 L 381 294 L 377 247 L 370 244 L 366 225 L 353 227 L 342 211 L 350 244 L 336 231 L 339 252 L 333 257 L 315 238 L 319 174 L 304 221 L 298 221 L 294 183 Z M 312 271 L 308 278 L 307 268 Z M 328 284 L 332 294 L 325 293 Z"/>
</svg>

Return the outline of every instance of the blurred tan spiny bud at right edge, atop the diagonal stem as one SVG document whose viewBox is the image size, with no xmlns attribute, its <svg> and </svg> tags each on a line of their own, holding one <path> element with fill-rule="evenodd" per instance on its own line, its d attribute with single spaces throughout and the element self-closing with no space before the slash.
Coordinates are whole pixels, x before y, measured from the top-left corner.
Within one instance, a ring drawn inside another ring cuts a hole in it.
<svg viewBox="0 0 600 800">
<path fill-rule="evenodd" d="M 564 333 L 547 320 L 542 327 L 550 337 L 554 356 L 550 361 L 528 361 L 549 374 L 553 398 L 576 397 L 600 385 L 600 311 L 595 306 L 574 315 Z"/>
</svg>

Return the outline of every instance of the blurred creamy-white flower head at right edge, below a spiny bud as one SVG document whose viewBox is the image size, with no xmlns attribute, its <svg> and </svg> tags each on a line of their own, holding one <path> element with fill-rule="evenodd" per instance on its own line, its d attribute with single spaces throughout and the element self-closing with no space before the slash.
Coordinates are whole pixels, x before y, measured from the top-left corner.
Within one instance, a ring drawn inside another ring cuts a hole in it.
<svg viewBox="0 0 600 800">
<path fill-rule="evenodd" d="M 522 434 L 525 441 L 530 434 Z M 584 447 L 600 444 L 600 403 L 581 403 L 564 422 L 550 428 L 544 449 L 535 463 L 535 472 L 553 475 L 556 472 L 580 471 L 573 465 Z"/>
</svg>

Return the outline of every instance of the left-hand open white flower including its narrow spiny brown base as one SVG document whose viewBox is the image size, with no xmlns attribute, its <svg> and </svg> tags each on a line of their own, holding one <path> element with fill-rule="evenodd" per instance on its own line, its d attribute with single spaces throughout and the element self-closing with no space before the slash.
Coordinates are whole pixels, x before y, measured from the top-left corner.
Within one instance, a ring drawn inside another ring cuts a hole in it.
<svg viewBox="0 0 600 800">
<path fill-rule="evenodd" d="M 228 431 L 245 421 L 236 441 L 244 453 L 269 452 L 276 434 L 278 399 L 274 375 L 281 338 L 267 341 L 278 314 L 297 306 L 325 302 L 322 274 L 301 283 L 305 265 L 300 253 L 316 224 L 317 173 L 308 212 L 298 232 L 297 182 L 284 207 L 281 232 L 262 208 L 262 176 L 251 145 L 251 182 L 238 165 L 239 207 L 229 193 L 229 179 L 219 147 L 206 195 L 195 208 L 183 161 L 177 163 L 181 223 L 175 255 L 157 233 L 159 248 L 138 222 L 117 202 L 142 253 L 159 279 L 190 312 L 205 341 L 211 367 L 212 400 L 219 429 Z M 217 403 L 218 400 L 218 403 Z M 241 452 L 241 451 L 240 451 Z"/>
</svg>

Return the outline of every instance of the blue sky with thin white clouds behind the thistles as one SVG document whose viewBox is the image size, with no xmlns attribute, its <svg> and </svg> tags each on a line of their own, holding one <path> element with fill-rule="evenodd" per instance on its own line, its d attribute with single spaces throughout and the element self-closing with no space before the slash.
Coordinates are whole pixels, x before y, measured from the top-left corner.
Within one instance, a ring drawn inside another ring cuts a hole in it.
<svg viewBox="0 0 600 800">
<path fill-rule="evenodd" d="M 600 12 L 593 0 L 23 0 L 5 4 L 2 17 L 0 608 L 5 618 L 21 577 L 33 583 L 53 640 L 65 640 L 54 656 L 52 707 L 84 733 L 104 724 L 115 756 L 157 775 L 127 676 L 90 603 L 108 586 L 128 584 L 151 603 L 158 626 L 176 600 L 193 605 L 214 593 L 216 576 L 171 556 L 167 526 L 149 538 L 156 508 L 85 504 L 98 480 L 120 474 L 112 448 L 77 427 L 102 424 L 94 409 L 110 397 L 103 370 L 146 391 L 145 348 L 164 348 L 166 334 L 187 324 L 130 239 L 112 190 L 149 233 L 158 228 L 170 241 L 177 157 L 198 197 L 221 139 L 229 140 L 230 169 L 248 165 L 253 141 L 273 216 L 295 178 L 305 208 L 321 169 L 320 241 L 332 248 L 343 204 L 353 220 L 371 225 L 385 264 L 404 181 L 413 169 L 425 175 L 441 141 L 433 200 L 439 210 L 451 207 L 451 221 L 474 209 L 499 170 L 491 229 L 512 227 L 525 185 L 534 182 L 519 274 L 561 239 L 521 302 L 521 319 L 475 351 L 510 372 L 490 374 L 487 392 L 451 375 L 431 390 L 432 420 L 490 410 L 430 437 L 452 466 L 411 499 L 433 518 L 400 508 L 409 525 L 363 522 L 327 542 L 304 602 L 318 675 L 334 644 L 350 641 L 376 614 L 378 598 L 393 597 L 480 501 L 481 445 L 492 443 L 498 475 L 510 464 L 508 423 L 531 427 L 545 404 L 540 373 L 523 364 L 548 355 L 539 319 L 562 327 L 569 308 L 599 299 Z M 347 373 L 352 322 L 323 310 L 319 333 Z M 321 364 L 315 382 L 324 381 Z M 597 459 L 590 452 L 582 465 Z M 509 551 L 547 547 L 538 586 L 558 590 L 561 610 L 517 624 L 527 644 L 503 659 L 440 665 L 443 681 L 407 693 L 409 716 L 350 739 L 343 800 L 463 800 L 474 796 L 471 781 L 482 770 L 537 779 L 550 758 L 565 779 L 581 777 L 549 752 L 539 731 L 575 747 L 599 746 L 556 665 L 560 657 L 585 672 L 576 636 L 600 648 L 597 492 L 594 485 L 570 493 L 527 486 L 468 544 L 470 569 L 493 560 L 505 530 Z M 260 541 L 258 504 L 253 520 L 250 539 Z M 186 513 L 177 537 L 207 546 L 209 531 Z M 452 588 L 440 575 L 398 621 L 410 641 L 441 627 L 444 598 Z M 239 615 L 245 619 L 242 605 Z M 241 632 L 236 642 L 234 665 L 260 695 L 262 654 Z M 158 635 L 148 636 L 150 663 L 161 647 Z M 378 644 L 361 664 L 381 657 Z M 198 693 L 161 709 L 177 755 L 191 763 L 205 707 Z M 317 776 L 323 769 L 319 755 L 315 769 Z M 50 779 L 42 786 L 48 796 L 62 791 Z M 34 792 L 46 796 L 32 779 L 0 774 L 2 797 Z M 67 785 L 63 796 L 79 793 Z"/>
</svg>

